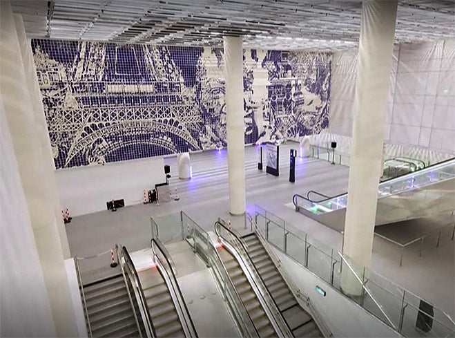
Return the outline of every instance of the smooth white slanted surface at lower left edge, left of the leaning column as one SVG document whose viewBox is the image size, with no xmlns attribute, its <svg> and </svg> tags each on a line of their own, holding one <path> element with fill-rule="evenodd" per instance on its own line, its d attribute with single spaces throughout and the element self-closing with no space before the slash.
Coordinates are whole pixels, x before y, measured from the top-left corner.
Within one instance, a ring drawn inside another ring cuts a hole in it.
<svg viewBox="0 0 455 338">
<path fill-rule="evenodd" d="M 0 336 L 55 337 L 26 198 L 0 98 Z"/>
</svg>

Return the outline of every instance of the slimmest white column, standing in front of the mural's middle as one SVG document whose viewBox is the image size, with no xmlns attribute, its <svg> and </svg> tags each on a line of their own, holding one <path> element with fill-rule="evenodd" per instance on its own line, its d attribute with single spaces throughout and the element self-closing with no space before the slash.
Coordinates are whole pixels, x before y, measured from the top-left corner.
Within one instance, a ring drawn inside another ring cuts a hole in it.
<svg viewBox="0 0 455 338">
<path fill-rule="evenodd" d="M 245 142 L 242 37 L 224 37 L 229 212 L 245 213 Z"/>
</svg>

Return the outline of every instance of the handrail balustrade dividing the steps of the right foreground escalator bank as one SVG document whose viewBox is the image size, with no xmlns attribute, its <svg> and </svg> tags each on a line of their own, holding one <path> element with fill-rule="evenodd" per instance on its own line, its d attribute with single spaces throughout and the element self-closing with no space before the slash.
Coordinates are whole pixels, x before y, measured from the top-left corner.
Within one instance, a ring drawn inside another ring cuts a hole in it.
<svg viewBox="0 0 455 338">
<path fill-rule="evenodd" d="M 240 239 L 238 234 L 235 234 L 235 232 L 226 227 L 225 224 L 224 220 L 219 218 L 219 220 L 215 222 L 215 233 L 218 238 L 222 238 L 224 241 L 227 241 L 233 246 L 232 249 L 236 252 L 231 252 L 231 254 L 238 254 L 235 258 L 238 260 L 240 267 L 242 267 L 245 276 L 249 279 L 251 287 L 255 290 L 258 299 L 261 303 L 263 303 L 263 308 L 268 314 L 275 332 L 277 332 L 279 337 L 291 337 L 291 329 L 287 325 L 286 321 L 284 321 L 280 308 L 278 307 L 275 299 L 271 296 L 269 289 L 266 287 L 264 280 L 262 279 L 262 276 L 258 270 L 256 270 L 256 267 L 249 256 L 248 250 L 245 247 L 245 243 Z M 223 234 L 221 234 L 222 231 L 227 232 L 227 235 L 230 238 L 223 236 Z"/>
</svg>

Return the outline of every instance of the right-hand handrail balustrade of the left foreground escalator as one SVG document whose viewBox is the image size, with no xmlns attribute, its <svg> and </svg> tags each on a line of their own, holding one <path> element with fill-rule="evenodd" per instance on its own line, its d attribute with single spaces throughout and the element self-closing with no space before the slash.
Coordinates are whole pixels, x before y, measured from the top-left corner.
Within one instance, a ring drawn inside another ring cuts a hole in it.
<svg viewBox="0 0 455 338">
<path fill-rule="evenodd" d="M 177 310 L 180 323 L 182 323 L 182 328 L 185 333 L 185 337 L 197 337 L 197 331 L 195 329 L 193 319 L 191 319 L 190 312 L 186 306 L 182 290 L 180 290 L 179 283 L 177 282 L 177 277 L 175 276 L 173 265 L 166 255 L 167 250 L 164 249 L 164 245 L 159 241 L 158 238 L 152 238 L 150 245 L 153 251 L 153 257 L 155 263 L 162 271 L 166 284 L 168 285 L 169 291 L 173 298 L 175 309 Z"/>
</svg>

